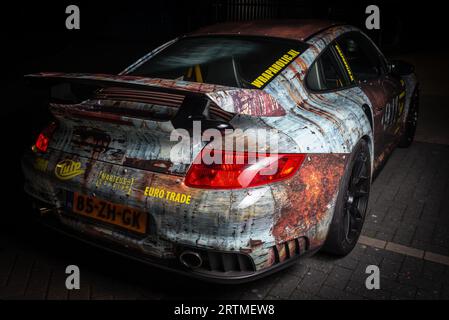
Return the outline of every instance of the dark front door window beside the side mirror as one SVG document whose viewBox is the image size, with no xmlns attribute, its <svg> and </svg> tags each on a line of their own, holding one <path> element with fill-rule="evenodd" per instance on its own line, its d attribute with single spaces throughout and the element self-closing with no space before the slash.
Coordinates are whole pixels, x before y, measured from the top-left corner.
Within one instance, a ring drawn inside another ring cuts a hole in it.
<svg viewBox="0 0 449 320">
<path fill-rule="evenodd" d="M 382 75 L 384 63 L 377 49 L 363 35 L 344 35 L 337 40 L 336 46 L 337 51 L 341 48 L 342 59 L 346 59 L 356 80 L 373 80 Z"/>
</svg>

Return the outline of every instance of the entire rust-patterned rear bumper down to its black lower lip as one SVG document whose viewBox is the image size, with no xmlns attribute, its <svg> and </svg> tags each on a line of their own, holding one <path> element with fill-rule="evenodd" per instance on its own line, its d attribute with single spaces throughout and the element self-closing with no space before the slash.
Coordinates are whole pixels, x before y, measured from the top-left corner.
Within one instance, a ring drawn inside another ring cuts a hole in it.
<svg viewBox="0 0 449 320">
<path fill-rule="evenodd" d="M 42 158 L 45 166 L 37 161 Z M 65 159 L 81 163 L 85 174 L 57 178 L 55 168 Z M 311 155 L 291 181 L 241 190 L 192 189 L 176 176 L 126 168 L 126 175 L 135 179 L 130 194 L 96 185 L 101 170 L 124 172 L 123 166 L 61 151 L 25 154 L 22 168 L 25 191 L 50 209 L 53 219 L 43 221 L 53 229 L 163 269 L 217 282 L 245 282 L 282 269 L 323 244 L 343 160 L 341 155 Z M 191 202 L 149 199 L 147 186 L 188 194 Z M 75 192 L 146 212 L 147 232 L 136 236 L 74 215 L 69 198 Z M 208 264 L 184 266 L 179 255 L 187 249 Z"/>
</svg>

